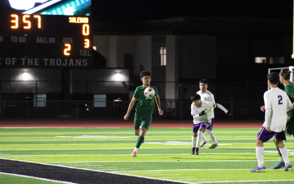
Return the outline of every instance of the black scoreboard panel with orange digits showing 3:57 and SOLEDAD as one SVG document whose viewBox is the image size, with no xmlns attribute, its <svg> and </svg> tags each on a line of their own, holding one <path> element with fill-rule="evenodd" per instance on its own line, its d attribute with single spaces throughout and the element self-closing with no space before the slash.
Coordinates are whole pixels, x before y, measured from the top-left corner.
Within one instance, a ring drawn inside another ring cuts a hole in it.
<svg viewBox="0 0 294 184">
<path fill-rule="evenodd" d="M 0 68 L 93 66 L 90 17 L 12 13 L 0 25 Z"/>
</svg>

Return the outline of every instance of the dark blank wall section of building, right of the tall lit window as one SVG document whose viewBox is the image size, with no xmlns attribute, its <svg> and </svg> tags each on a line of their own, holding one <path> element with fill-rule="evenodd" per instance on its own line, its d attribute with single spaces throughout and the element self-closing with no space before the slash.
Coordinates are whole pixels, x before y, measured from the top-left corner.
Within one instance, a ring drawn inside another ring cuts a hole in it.
<svg viewBox="0 0 294 184">
<path fill-rule="evenodd" d="M 216 36 L 182 36 L 177 48 L 179 79 L 216 78 Z"/>
</svg>

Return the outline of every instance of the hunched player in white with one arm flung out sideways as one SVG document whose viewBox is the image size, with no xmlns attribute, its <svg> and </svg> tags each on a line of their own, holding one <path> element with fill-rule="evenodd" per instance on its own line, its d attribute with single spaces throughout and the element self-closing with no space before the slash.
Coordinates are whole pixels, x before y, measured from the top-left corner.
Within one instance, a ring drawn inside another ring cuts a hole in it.
<svg viewBox="0 0 294 184">
<path fill-rule="evenodd" d="M 199 94 L 195 93 L 191 97 L 191 115 L 193 116 L 193 137 L 192 144 L 193 148 L 191 155 L 199 155 L 199 147 L 202 140 L 203 132 L 211 123 L 211 110 L 213 108 L 220 108 L 229 117 L 232 117 L 231 113 L 228 112 L 221 104 L 212 102 L 202 102 Z"/>
</svg>

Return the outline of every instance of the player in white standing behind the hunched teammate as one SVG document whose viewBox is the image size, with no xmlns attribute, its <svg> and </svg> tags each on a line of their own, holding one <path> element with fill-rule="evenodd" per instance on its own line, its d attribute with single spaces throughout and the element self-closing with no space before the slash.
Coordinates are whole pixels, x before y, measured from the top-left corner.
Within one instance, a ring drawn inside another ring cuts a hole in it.
<svg viewBox="0 0 294 184">
<path fill-rule="evenodd" d="M 199 88 L 200 88 L 200 90 L 197 92 L 197 94 L 200 95 L 202 102 L 215 103 L 213 94 L 210 91 L 207 90 L 208 81 L 206 79 L 201 79 L 200 80 Z M 216 147 L 219 146 L 219 143 L 217 142 L 217 139 L 216 139 L 214 133 L 212 132 L 213 122 L 214 122 L 214 108 L 211 109 L 211 123 L 210 123 L 210 126 L 207 127 L 207 129 L 205 130 L 208 133 L 208 135 L 210 136 L 210 138 L 211 138 L 211 140 L 213 142 L 212 145 L 209 148 L 216 148 Z M 208 140 L 206 139 L 206 137 L 204 135 L 204 132 L 203 132 L 202 140 L 203 141 L 200 143 L 200 147 L 203 147 L 205 144 L 208 143 Z"/>
</svg>

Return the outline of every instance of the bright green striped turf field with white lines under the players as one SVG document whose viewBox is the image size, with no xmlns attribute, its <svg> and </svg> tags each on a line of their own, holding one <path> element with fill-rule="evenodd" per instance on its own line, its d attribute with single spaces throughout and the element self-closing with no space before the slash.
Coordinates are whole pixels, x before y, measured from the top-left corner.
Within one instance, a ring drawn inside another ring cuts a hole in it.
<svg viewBox="0 0 294 184">
<path fill-rule="evenodd" d="M 200 148 L 197 156 L 190 154 L 192 128 L 150 128 L 137 158 L 131 158 L 138 138 L 132 128 L 0 128 L 0 158 L 185 183 L 293 184 L 294 171 L 270 169 L 278 161 L 272 140 L 265 143 L 267 171 L 248 172 L 257 166 L 258 131 L 259 128 L 214 128 L 220 146 L 208 149 L 212 141 L 205 133 L 209 143 Z M 294 138 L 287 139 L 290 162 L 294 164 Z M 0 174 L 1 184 L 11 184 L 19 178 L 23 177 Z"/>
</svg>

